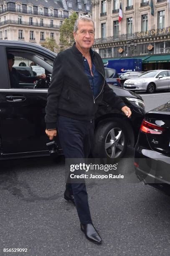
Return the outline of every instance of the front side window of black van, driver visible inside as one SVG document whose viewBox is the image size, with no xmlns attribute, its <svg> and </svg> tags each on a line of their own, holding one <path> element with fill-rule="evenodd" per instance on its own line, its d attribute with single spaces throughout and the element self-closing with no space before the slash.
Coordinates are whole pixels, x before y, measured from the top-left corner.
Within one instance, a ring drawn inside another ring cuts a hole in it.
<svg viewBox="0 0 170 256">
<path fill-rule="evenodd" d="M 9 68 L 11 88 L 44 89 L 49 87 L 53 61 L 37 55 L 32 51 L 10 48 L 10 50 L 7 50 L 7 54 L 13 54 L 14 56 L 13 66 Z M 44 73 L 49 75 L 49 79 L 46 81 L 45 79 L 41 79 L 43 80 L 42 83 L 39 83 L 38 87 L 35 87 L 36 81 L 41 82 L 37 79 L 37 76 Z"/>
</svg>

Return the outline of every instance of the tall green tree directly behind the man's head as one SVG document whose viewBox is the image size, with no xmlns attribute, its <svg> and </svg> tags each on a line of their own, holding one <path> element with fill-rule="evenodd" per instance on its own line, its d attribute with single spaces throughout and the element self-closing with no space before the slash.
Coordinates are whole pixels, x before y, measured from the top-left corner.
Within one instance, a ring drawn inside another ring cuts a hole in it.
<svg viewBox="0 0 170 256">
<path fill-rule="evenodd" d="M 74 12 L 69 18 L 66 18 L 63 25 L 60 28 L 60 42 L 63 44 L 62 50 L 65 50 L 72 46 L 74 43 L 74 23 L 78 15 Z"/>
</svg>

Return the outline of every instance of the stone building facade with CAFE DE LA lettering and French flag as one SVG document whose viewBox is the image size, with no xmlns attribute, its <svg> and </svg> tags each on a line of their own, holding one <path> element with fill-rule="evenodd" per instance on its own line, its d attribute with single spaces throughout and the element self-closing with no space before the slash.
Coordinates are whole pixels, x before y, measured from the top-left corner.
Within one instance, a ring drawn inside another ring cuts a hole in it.
<svg viewBox="0 0 170 256">
<path fill-rule="evenodd" d="M 119 23 L 120 2 L 123 18 Z M 146 64 L 144 70 L 169 67 L 170 4 L 167 0 L 92 0 L 91 5 L 96 27 L 94 49 L 104 62 L 139 56 Z"/>
</svg>

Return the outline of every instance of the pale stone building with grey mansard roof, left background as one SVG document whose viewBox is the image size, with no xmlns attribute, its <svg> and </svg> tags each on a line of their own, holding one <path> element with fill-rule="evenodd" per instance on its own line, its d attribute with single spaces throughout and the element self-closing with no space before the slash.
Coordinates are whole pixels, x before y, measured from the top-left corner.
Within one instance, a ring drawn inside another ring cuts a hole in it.
<svg viewBox="0 0 170 256">
<path fill-rule="evenodd" d="M 60 45 L 60 26 L 74 11 L 91 16 L 89 0 L 0 0 L 0 39 Z"/>
</svg>

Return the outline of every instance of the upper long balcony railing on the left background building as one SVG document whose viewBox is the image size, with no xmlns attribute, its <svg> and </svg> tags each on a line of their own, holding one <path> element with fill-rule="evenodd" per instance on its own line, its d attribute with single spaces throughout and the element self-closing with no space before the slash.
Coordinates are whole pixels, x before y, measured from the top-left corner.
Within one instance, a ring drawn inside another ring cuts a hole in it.
<svg viewBox="0 0 170 256">
<path fill-rule="evenodd" d="M 36 16 L 46 16 L 46 17 L 55 17 L 55 18 L 69 18 L 68 15 L 58 15 L 58 14 L 52 14 L 51 13 L 40 13 L 38 11 L 28 11 L 28 10 L 18 10 L 17 8 L 6 8 L 4 10 L 0 10 L 0 14 L 1 13 L 6 13 L 6 12 L 12 12 L 12 13 L 24 13 L 24 14 L 33 14 L 33 15 L 36 15 Z"/>
</svg>

